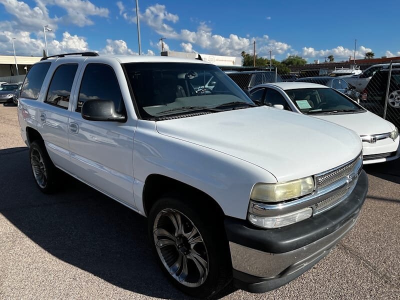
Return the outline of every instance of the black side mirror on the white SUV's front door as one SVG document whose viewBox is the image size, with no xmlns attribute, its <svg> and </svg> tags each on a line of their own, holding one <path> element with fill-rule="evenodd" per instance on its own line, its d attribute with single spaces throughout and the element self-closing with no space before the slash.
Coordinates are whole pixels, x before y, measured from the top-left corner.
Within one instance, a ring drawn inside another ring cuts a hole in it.
<svg viewBox="0 0 400 300">
<path fill-rule="evenodd" d="M 80 111 L 82 118 L 90 121 L 124 122 L 126 115 L 115 111 L 111 100 L 90 99 L 83 102 Z"/>
</svg>

